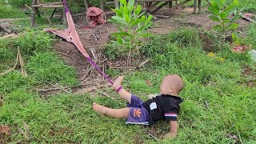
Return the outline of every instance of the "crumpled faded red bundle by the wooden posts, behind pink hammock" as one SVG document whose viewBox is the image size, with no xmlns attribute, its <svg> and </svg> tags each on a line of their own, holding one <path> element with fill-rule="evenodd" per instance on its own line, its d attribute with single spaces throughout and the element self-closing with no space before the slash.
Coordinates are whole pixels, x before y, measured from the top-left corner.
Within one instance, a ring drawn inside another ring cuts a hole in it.
<svg viewBox="0 0 256 144">
<path fill-rule="evenodd" d="M 90 18 L 90 27 L 102 25 L 106 22 L 104 12 L 98 7 L 89 7 L 86 11 L 86 15 Z"/>
</svg>

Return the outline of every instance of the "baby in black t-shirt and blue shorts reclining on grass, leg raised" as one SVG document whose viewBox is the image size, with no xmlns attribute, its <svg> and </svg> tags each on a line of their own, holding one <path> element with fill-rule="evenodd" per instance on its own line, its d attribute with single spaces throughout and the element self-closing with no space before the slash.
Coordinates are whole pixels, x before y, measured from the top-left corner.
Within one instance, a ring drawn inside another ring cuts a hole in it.
<svg viewBox="0 0 256 144">
<path fill-rule="evenodd" d="M 110 109 L 93 103 L 93 109 L 112 118 L 127 118 L 126 124 L 151 125 L 158 120 L 166 119 L 170 122 L 170 132 L 166 134 L 166 138 L 175 138 L 178 127 L 179 104 L 183 101 L 182 98 L 178 97 L 184 85 L 182 78 L 177 74 L 167 75 L 162 80 L 160 94 L 146 102 L 123 89 L 122 80 L 123 76 L 118 77 L 113 84 L 113 88 L 121 98 L 129 102 L 127 107 Z"/>
</svg>

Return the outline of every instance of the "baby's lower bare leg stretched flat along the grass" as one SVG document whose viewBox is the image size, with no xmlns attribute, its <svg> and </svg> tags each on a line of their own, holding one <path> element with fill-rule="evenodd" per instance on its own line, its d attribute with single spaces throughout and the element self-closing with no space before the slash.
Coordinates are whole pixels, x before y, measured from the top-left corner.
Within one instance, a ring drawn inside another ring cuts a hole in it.
<svg viewBox="0 0 256 144">
<path fill-rule="evenodd" d="M 110 109 L 105 106 L 98 105 L 98 103 L 93 103 L 93 109 L 100 114 L 106 114 L 112 118 L 128 118 L 128 114 L 130 112 L 130 108 L 122 108 L 122 109 Z"/>
</svg>

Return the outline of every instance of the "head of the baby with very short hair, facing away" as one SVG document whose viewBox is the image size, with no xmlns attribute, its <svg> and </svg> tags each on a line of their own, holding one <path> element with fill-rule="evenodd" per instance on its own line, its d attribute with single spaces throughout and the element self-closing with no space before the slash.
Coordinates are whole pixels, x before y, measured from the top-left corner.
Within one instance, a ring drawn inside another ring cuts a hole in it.
<svg viewBox="0 0 256 144">
<path fill-rule="evenodd" d="M 178 74 L 168 74 L 162 79 L 160 94 L 178 96 L 179 91 L 182 90 L 183 86 L 184 82 Z"/>
</svg>

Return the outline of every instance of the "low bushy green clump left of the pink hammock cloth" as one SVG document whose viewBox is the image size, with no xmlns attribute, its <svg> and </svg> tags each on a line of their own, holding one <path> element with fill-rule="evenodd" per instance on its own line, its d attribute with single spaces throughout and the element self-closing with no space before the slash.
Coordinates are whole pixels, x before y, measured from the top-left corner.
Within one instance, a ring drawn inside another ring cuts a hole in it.
<svg viewBox="0 0 256 144">
<path fill-rule="evenodd" d="M 17 39 L 18 46 L 25 54 L 31 54 L 34 51 L 45 51 L 51 48 L 50 34 L 43 30 L 26 30 Z"/>
</svg>

